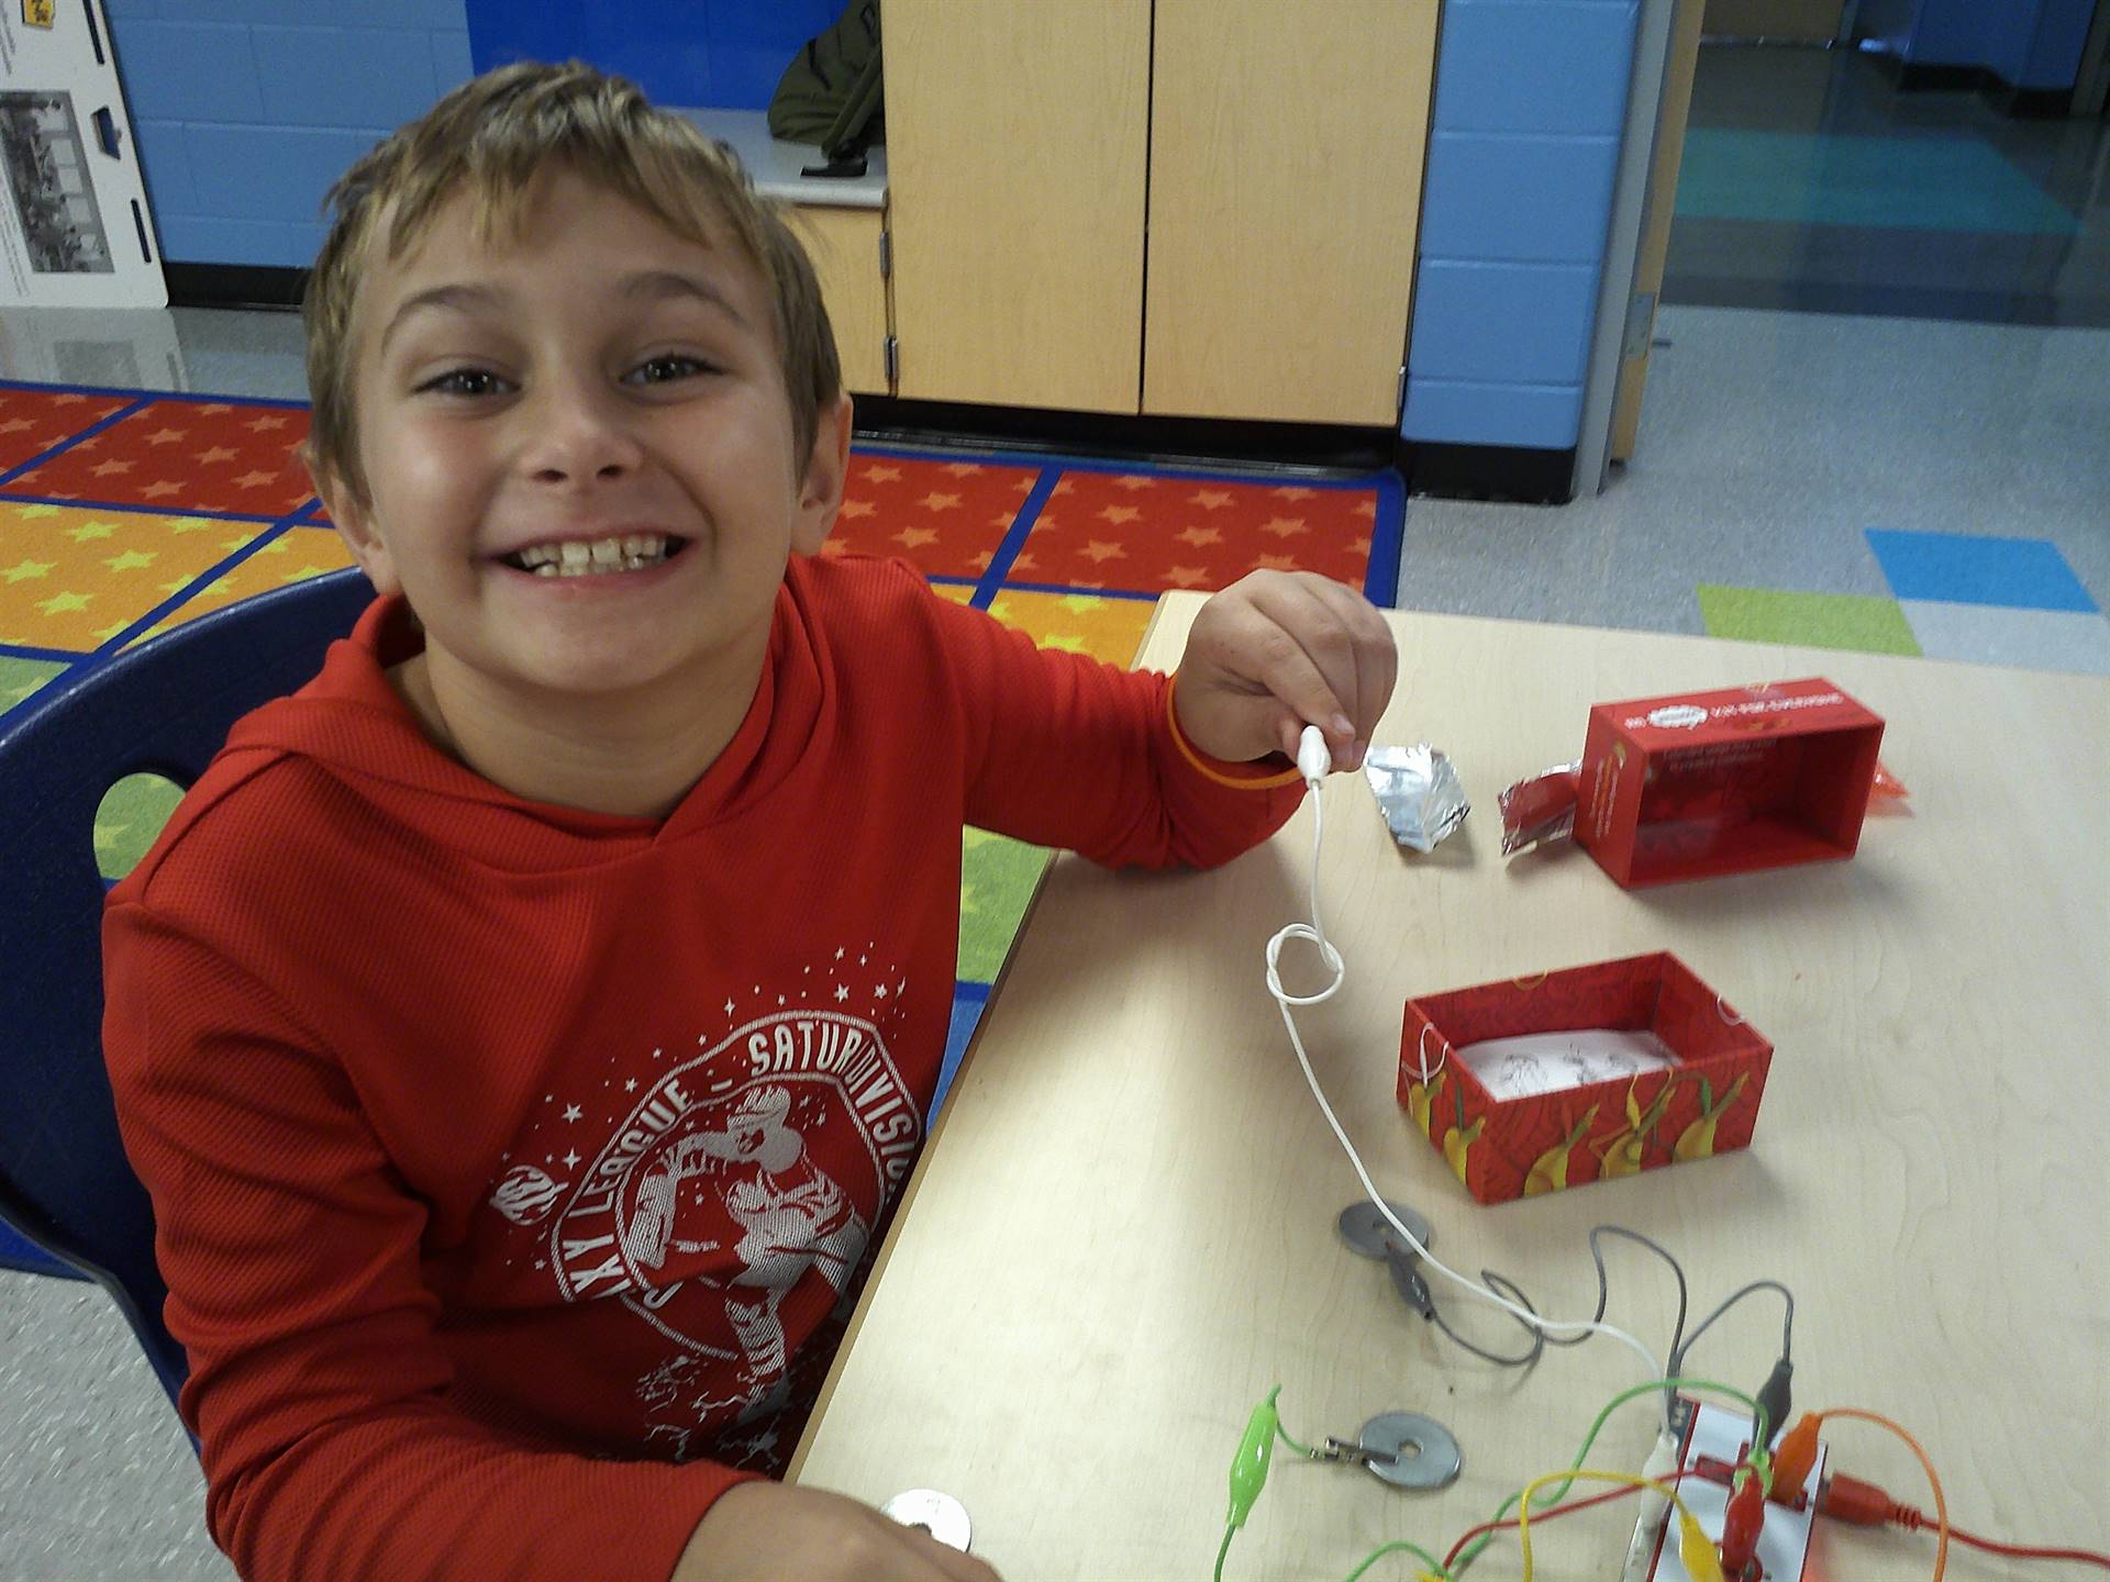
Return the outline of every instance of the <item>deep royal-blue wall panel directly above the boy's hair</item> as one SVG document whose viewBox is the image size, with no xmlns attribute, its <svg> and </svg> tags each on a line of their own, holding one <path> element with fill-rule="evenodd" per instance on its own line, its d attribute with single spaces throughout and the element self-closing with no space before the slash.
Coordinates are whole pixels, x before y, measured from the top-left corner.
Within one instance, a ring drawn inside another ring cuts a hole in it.
<svg viewBox="0 0 2110 1582">
<path fill-rule="evenodd" d="M 766 110 L 800 44 L 842 0 L 468 0 L 477 70 L 578 57 L 656 103 Z"/>
</svg>

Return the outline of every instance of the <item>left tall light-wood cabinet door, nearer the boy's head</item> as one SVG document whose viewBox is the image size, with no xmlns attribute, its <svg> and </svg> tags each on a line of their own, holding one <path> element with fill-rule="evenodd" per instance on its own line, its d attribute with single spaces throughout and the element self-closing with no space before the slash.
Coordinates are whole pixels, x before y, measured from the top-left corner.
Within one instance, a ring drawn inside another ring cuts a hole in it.
<svg viewBox="0 0 2110 1582">
<path fill-rule="evenodd" d="M 897 394 L 1135 411 L 1150 0 L 886 0 Z"/>
</svg>

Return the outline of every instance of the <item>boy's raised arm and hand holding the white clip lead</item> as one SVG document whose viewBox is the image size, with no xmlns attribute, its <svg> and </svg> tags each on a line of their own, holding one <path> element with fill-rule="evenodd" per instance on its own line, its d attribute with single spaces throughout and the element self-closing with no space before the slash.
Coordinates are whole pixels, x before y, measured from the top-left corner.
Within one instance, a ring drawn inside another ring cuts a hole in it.
<svg viewBox="0 0 2110 1582">
<path fill-rule="evenodd" d="M 1215 595 L 1177 679 L 1036 650 L 937 603 L 968 823 L 1112 867 L 1213 867 L 1266 840 L 1304 795 L 1289 761 L 1304 721 L 1355 768 L 1393 690 L 1382 618 L 1317 576 L 1255 574 Z"/>
</svg>

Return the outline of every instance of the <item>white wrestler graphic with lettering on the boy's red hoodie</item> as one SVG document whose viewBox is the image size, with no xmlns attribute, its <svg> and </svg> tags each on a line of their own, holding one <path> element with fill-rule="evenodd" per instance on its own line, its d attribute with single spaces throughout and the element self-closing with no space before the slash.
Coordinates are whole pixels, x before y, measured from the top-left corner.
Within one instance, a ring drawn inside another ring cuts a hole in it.
<svg viewBox="0 0 2110 1582">
<path fill-rule="evenodd" d="M 783 1304 L 802 1282 L 848 1306 L 874 1221 L 922 1143 L 920 1105 L 880 1027 L 899 1021 L 905 989 L 876 985 L 869 1017 L 776 996 L 781 1010 L 703 1034 L 688 1061 L 652 1050 L 648 1080 L 620 1084 L 631 1103 L 606 1118 L 597 1154 L 544 1156 L 576 1175 L 523 1162 L 496 1183 L 490 1204 L 542 1236 L 536 1268 L 561 1299 L 616 1299 L 673 1342 L 635 1390 L 660 1453 L 696 1453 L 692 1441 L 787 1403 L 802 1335 L 785 1333 Z M 762 985 L 755 998 L 768 998 Z M 846 998 L 836 985 L 833 1000 Z M 584 1120 L 557 1101 L 559 1122 Z M 806 1291 L 802 1333 L 814 1325 Z"/>
</svg>

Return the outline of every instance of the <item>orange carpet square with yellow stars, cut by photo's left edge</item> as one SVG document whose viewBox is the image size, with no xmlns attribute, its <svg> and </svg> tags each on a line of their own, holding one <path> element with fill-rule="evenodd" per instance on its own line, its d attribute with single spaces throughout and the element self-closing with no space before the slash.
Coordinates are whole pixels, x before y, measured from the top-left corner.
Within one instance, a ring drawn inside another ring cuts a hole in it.
<svg viewBox="0 0 2110 1582">
<path fill-rule="evenodd" d="M 0 643 L 89 654 L 264 532 L 0 500 Z"/>
</svg>

